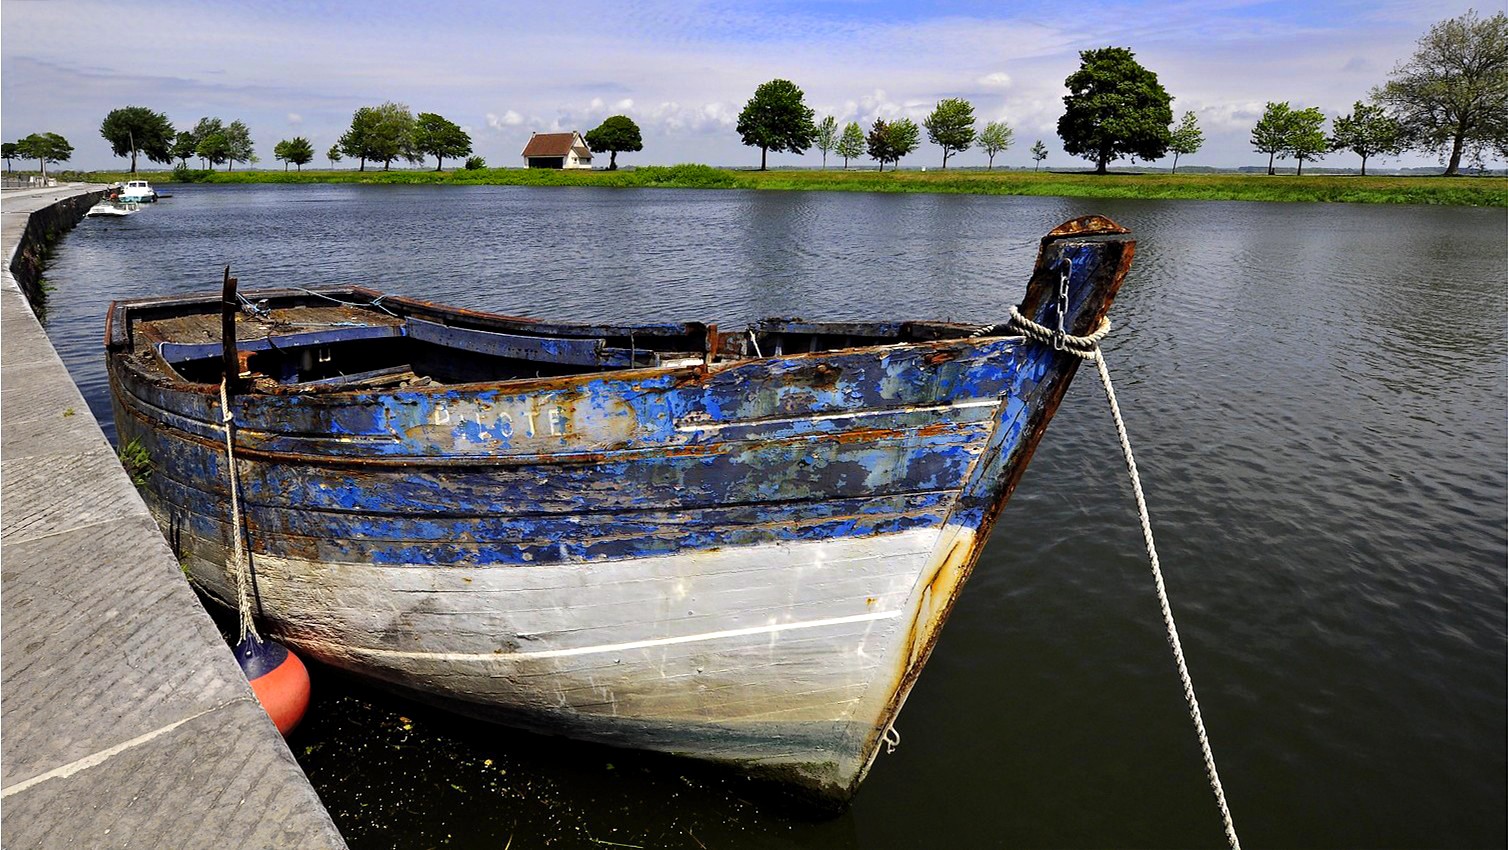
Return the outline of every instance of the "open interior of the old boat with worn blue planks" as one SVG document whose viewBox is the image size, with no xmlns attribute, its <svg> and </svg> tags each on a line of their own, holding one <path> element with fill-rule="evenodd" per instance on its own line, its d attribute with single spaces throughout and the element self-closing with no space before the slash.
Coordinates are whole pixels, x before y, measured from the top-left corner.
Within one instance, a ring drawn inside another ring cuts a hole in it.
<svg viewBox="0 0 1508 850">
<path fill-rule="evenodd" d="M 118 301 L 107 347 L 172 380 L 225 375 L 219 295 Z M 237 297 L 238 375 L 253 392 L 330 392 L 498 383 L 615 369 L 713 365 L 844 348 L 967 338 L 952 323 L 814 323 L 771 318 L 716 326 L 555 324 L 443 307 L 362 288 Z"/>
</svg>

